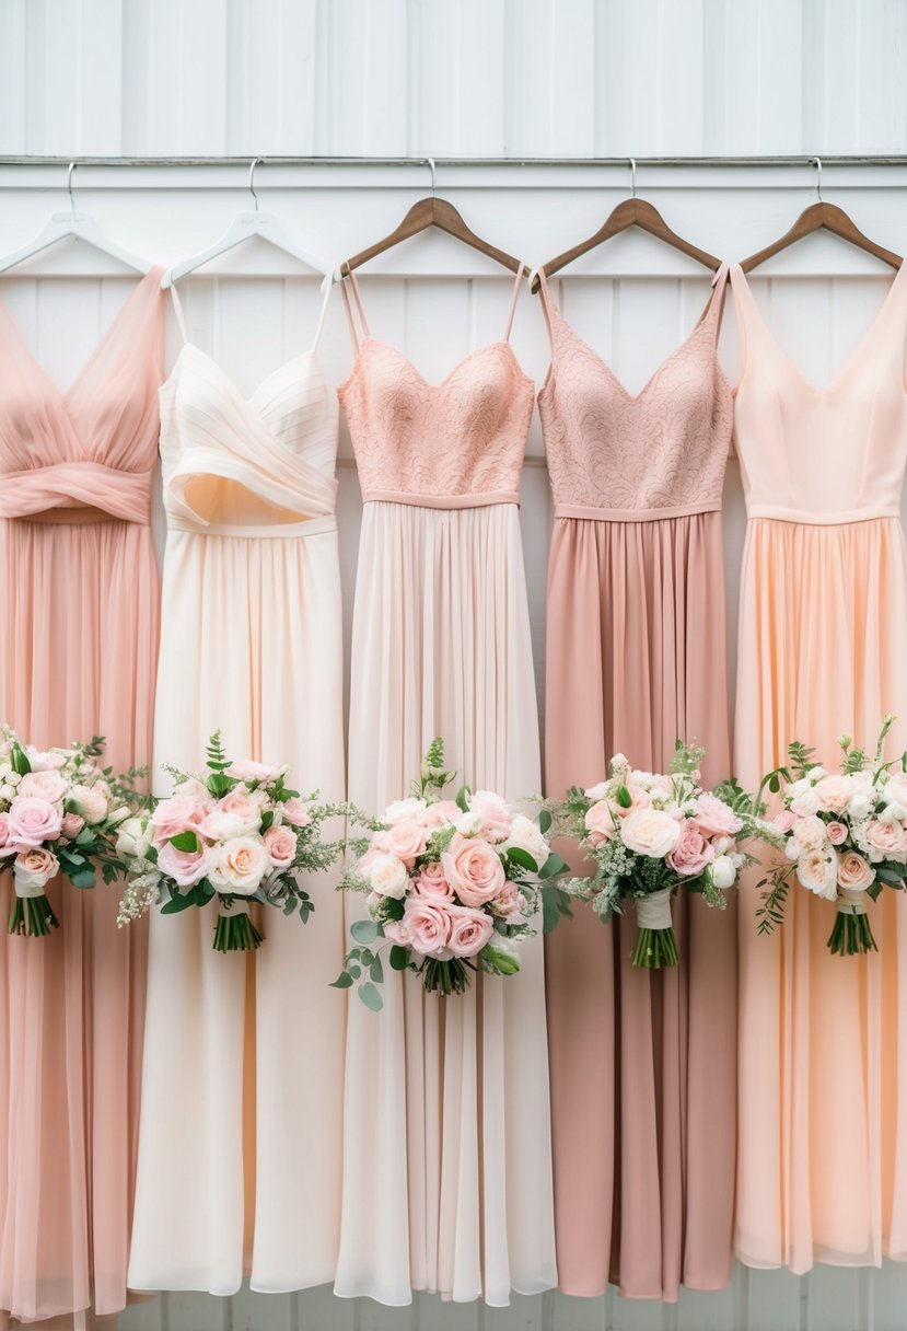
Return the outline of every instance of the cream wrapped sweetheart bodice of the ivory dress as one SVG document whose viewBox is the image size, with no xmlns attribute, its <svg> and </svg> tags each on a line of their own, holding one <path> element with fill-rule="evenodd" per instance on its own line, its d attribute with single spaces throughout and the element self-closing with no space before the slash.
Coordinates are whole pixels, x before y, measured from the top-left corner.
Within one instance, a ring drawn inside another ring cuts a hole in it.
<svg viewBox="0 0 907 1331">
<path fill-rule="evenodd" d="M 243 398 L 186 343 L 161 389 L 164 503 L 173 530 L 281 536 L 334 524 L 338 403 L 307 351 Z"/>
</svg>

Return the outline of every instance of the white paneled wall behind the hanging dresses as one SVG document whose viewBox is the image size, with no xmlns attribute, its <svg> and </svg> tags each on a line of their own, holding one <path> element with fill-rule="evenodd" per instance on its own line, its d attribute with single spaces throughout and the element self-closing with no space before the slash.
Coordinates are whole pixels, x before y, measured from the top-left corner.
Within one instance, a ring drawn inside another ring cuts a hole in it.
<svg viewBox="0 0 907 1331">
<path fill-rule="evenodd" d="M 0 0 L 0 154 L 88 157 L 350 156 L 461 158 L 438 188 L 497 245 L 537 264 L 593 230 L 626 192 L 622 166 L 520 164 L 521 157 L 799 154 L 801 164 L 650 165 L 638 173 L 682 234 L 742 257 L 814 197 L 806 156 L 907 153 L 907 0 Z M 513 162 L 469 162 L 511 157 Z M 80 208 L 125 248 L 169 264 L 246 208 L 237 165 L 84 165 Z M 262 206 L 310 252 L 339 261 L 394 226 L 426 190 L 424 165 L 350 162 L 258 169 Z M 65 208 L 65 166 L 0 162 L 0 253 Z M 838 165 L 826 197 L 907 252 L 907 165 Z M 509 278 L 439 236 L 372 266 L 372 331 L 440 379 L 500 337 Z M 825 385 L 879 309 L 880 265 L 815 237 L 766 268 L 757 295 L 802 370 Z M 78 246 L 0 282 L 0 297 L 61 387 L 128 290 Z M 556 286 L 569 319 L 630 391 L 692 327 L 708 280 L 645 237 L 621 237 Z M 323 365 L 340 382 L 350 345 L 339 294 Z M 243 393 L 307 346 L 318 282 L 263 246 L 184 286 L 190 337 Z M 721 355 L 731 378 L 729 302 Z M 515 346 L 541 382 L 547 338 L 524 293 Z M 177 350 L 172 321 L 169 355 Z M 359 490 L 342 438 L 339 522 L 347 623 Z M 551 504 L 537 419 L 523 480 L 523 534 L 540 697 Z M 156 502 L 162 547 L 162 512 Z M 743 510 L 726 490 L 733 662 Z M 326 1002 L 342 1001 L 326 994 Z M 380 1020 L 380 1018 L 376 1018 Z M 738 1271 L 722 1294 L 676 1307 L 547 1295 L 509 1310 L 340 1302 L 327 1288 L 215 1300 L 164 1295 L 124 1331 L 903 1331 L 907 1268 Z"/>
</svg>

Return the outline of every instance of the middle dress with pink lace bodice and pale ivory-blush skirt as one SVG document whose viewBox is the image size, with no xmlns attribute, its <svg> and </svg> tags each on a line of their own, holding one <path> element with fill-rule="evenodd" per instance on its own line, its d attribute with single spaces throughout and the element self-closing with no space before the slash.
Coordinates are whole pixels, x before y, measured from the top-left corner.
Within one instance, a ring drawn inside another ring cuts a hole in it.
<svg viewBox="0 0 907 1331">
<path fill-rule="evenodd" d="M 517 286 L 513 291 L 516 299 Z M 364 499 L 352 630 L 350 795 L 408 793 L 435 735 L 457 780 L 540 785 L 519 528 L 532 383 L 504 341 L 444 379 L 350 318 L 340 389 Z M 346 294 L 346 287 L 344 287 Z M 347 298 L 347 311 L 350 311 Z M 512 318 L 513 307 L 511 307 Z M 352 898 L 350 918 L 363 913 Z M 384 1010 L 350 1004 L 335 1292 L 484 1298 L 556 1283 L 541 938 L 508 980 L 426 996 L 392 973 Z"/>
</svg>

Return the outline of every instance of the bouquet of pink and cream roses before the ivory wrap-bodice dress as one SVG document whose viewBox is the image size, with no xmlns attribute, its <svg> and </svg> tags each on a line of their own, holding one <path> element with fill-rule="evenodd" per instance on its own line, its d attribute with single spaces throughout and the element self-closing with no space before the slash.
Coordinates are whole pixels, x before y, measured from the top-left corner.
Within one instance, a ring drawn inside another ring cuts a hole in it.
<svg viewBox="0 0 907 1331">
<path fill-rule="evenodd" d="M 207 745 L 207 776 L 166 768 L 173 795 L 120 828 L 117 853 L 130 881 L 120 902 L 122 928 L 157 902 L 161 914 L 217 898 L 217 952 L 247 952 L 263 942 L 249 916 L 251 901 L 299 913 L 314 910 L 297 870 L 326 869 L 343 841 L 322 841 L 321 825 L 346 805 L 303 800 L 287 787 L 286 767 L 230 761 L 219 731 Z"/>
</svg>

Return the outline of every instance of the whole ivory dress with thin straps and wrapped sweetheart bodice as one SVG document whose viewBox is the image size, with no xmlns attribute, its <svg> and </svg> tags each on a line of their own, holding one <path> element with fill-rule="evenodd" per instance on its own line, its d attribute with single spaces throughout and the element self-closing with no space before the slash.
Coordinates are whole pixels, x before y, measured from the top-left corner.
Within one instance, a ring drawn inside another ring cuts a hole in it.
<svg viewBox="0 0 907 1331">
<path fill-rule="evenodd" d="M 176 291 L 174 303 L 180 314 Z M 184 345 L 161 390 L 156 791 L 170 789 L 164 763 L 202 769 L 221 728 L 231 757 L 289 763 L 303 795 L 342 796 L 336 435 L 314 347 L 245 398 Z M 305 928 L 263 912 L 255 953 L 213 950 L 215 905 L 154 914 L 133 1288 L 234 1294 L 246 1271 L 269 1292 L 332 1279 L 344 1040 L 344 1000 L 327 988 L 343 957 L 335 885 L 306 881 L 315 912 Z"/>
</svg>

